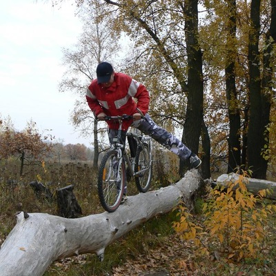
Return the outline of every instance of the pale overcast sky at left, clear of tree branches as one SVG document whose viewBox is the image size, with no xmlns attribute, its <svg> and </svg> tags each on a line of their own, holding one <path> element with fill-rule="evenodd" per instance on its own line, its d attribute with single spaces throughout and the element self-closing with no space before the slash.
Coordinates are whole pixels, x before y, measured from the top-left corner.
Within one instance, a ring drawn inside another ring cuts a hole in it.
<svg viewBox="0 0 276 276">
<path fill-rule="evenodd" d="M 58 90 L 65 70 L 61 48 L 81 34 L 74 1 L 65 2 L 59 9 L 50 1 L 0 1 L 0 114 L 9 115 L 17 130 L 32 119 L 64 144 L 88 146 L 69 121 L 76 96 Z"/>
</svg>

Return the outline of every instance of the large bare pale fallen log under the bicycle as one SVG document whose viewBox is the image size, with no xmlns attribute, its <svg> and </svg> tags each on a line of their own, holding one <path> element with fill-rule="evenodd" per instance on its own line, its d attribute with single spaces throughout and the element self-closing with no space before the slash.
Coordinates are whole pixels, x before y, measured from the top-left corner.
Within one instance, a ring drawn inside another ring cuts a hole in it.
<svg viewBox="0 0 276 276">
<path fill-rule="evenodd" d="M 201 185 L 197 170 L 190 170 L 172 186 L 128 197 L 115 213 L 66 219 L 43 213 L 19 213 L 0 250 L 0 271 L 5 276 L 43 275 L 58 259 L 96 253 L 139 224 L 168 213 L 180 201 L 190 201 Z"/>
</svg>

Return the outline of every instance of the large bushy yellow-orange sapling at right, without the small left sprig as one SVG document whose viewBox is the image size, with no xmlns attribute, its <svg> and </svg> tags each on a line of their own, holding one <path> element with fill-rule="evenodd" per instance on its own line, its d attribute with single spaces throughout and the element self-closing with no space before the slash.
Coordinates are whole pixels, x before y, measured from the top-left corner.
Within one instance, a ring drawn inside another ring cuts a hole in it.
<svg viewBox="0 0 276 276">
<path fill-rule="evenodd" d="M 267 190 L 259 191 L 258 202 L 266 193 Z M 257 199 L 247 190 L 242 175 L 235 183 L 230 183 L 226 191 L 211 191 L 210 195 L 203 209 L 210 236 L 221 244 L 223 250 L 230 252 L 228 258 L 235 256 L 240 260 L 256 255 L 264 240 L 268 213 L 276 210 L 275 206 L 257 207 Z"/>
</svg>

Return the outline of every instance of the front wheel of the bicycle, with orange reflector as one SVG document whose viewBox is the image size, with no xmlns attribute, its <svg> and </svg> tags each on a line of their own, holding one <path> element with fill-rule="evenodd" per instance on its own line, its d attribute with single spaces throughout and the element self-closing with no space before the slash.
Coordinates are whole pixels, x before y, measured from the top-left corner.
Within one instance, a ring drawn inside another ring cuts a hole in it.
<svg viewBox="0 0 276 276">
<path fill-rule="evenodd" d="M 98 194 L 101 206 L 109 213 L 120 205 L 126 183 L 126 165 L 118 158 L 117 150 L 110 150 L 104 155 L 99 166 Z"/>
</svg>

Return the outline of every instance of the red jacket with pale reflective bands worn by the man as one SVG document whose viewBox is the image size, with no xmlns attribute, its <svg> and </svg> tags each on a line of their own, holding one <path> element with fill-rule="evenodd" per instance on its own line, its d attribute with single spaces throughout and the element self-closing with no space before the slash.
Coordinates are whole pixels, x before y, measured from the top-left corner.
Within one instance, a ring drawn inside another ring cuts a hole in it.
<svg viewBox="0 0 276 276">
<path fill-rule="evenodd" d="M 137 98 L 137 103 L 133 100 Z M 137 108 L 146 114 L 150 96 L 146 87 L 123 73 L 115 73 L 114 82 L 108 88 L 104 88 L 101 83 L 94 79 L 86 93 L 88 106 L 95 116 L 104 112 L 108 116 L 133 115 Z M 127 130 L 132 121 L 123 122 L 123 130 Z M 117 129 L 118 124 L 108 121 L 109 128 Z"/>
</svg>

